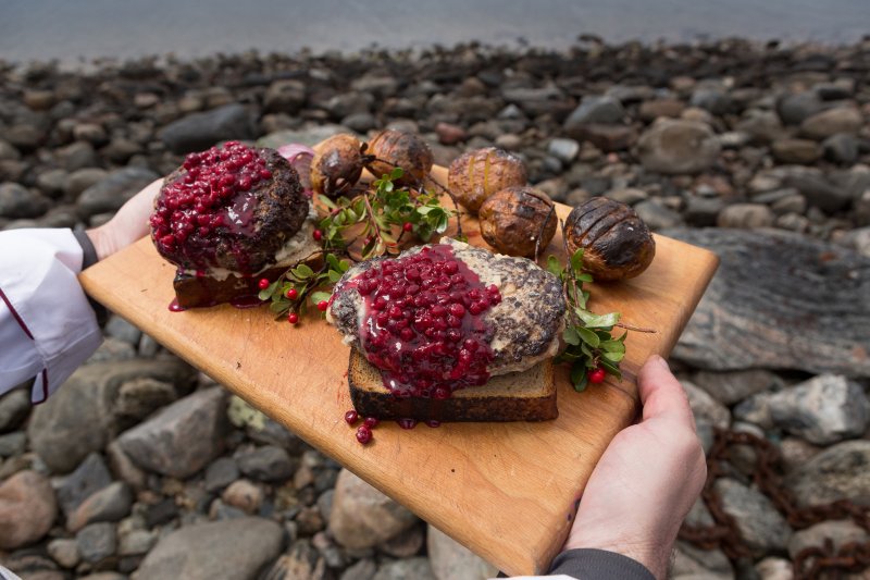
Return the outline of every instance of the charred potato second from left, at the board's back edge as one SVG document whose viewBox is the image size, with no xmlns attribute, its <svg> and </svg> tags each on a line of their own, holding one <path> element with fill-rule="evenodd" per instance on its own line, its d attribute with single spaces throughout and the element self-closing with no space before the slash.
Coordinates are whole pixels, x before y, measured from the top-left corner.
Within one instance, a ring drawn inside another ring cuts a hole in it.
<svg viewBox="0 0 870 580">
<path fill-rule="evenodd" d="M 388 175 L 396 166 L 401 168 L 403 175 L 395 180 L 399 185 L 421 184 L 434 163 L 432 149 L 422 137 L 395 129 L 385 129 L 372 137 L 365 153 L 374 157 L 366 169 L 375 177 Z"/>
</svg>

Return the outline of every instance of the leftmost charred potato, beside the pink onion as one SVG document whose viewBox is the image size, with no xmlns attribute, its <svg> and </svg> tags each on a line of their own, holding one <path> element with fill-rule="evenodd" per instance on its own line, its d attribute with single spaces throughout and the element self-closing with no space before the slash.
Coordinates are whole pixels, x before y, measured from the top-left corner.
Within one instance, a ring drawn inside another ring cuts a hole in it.
<svg viewBox="0 0 870 580">
<path fill-rule="evenodd" d="M 311 188 L 336 198 L 353 187 L 362 175 L 362 144 L 353 135 L 326 139 L 311 160 Z"/>
</svg>

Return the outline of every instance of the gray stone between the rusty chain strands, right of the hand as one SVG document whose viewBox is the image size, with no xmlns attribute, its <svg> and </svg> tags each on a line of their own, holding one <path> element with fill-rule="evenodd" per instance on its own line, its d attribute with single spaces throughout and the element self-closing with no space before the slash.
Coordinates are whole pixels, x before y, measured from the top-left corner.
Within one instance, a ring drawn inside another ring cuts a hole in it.
<svg viewBox="0 0 870 580">
<path fill-rule="evenodd" d="M 729 478 L 717 480 L 714 489 L 722 508 L 734 518 L 741 538 L 750 550 L 757 553 L 785 550 L 792 529 L 767 496 Z"/>
</svg>

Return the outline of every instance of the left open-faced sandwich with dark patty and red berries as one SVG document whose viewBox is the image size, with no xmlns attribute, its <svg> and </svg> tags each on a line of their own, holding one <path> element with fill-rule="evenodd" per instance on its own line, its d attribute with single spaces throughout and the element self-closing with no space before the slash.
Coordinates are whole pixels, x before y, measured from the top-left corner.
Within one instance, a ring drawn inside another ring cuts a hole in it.
<svg viewBox="0 0 870 580">
<path fill-rule="evenodd" d="M 321 259 L 309 197 L 273 149 L 238 141 L 190 153 L 154 201 L 151 238 L 178 267 L 178 308 L 260 304 L 260 281 Z"/>
</svg>

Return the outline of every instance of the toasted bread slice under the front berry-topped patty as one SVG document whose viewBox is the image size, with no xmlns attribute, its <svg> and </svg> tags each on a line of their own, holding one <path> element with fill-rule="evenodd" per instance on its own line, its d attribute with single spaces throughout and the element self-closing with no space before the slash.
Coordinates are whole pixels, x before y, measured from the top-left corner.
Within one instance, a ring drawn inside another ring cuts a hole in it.
<svg viewBox="0 0 870 580">
<path fill-rule="evenodd" d="M 552 359 L 493 377 L 483 386 L 460 388 L 450 398 L 401 398 L 384 386 L 381 371 L 351 348 L 348 383 L 350 400 L 361 417 L 449 422 L 546 421 L 559 416 Z"/>
</svg>

